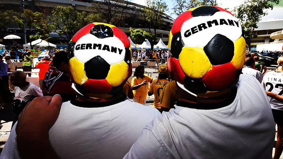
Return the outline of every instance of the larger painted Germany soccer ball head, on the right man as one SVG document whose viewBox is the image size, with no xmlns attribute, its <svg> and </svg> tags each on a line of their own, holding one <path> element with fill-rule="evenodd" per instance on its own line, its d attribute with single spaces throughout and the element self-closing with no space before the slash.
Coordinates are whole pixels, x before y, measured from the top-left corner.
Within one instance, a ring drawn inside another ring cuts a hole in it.
<svg viewBox="0 0 283 159">
<path fill-rule="evenodd" d="M 168 69 L 183 90 L 215 97 L 238 80 L 245 45 L 242 26 L 230 12 L 216 6 L 195 7 L 173 23 Z"/>
</svg>

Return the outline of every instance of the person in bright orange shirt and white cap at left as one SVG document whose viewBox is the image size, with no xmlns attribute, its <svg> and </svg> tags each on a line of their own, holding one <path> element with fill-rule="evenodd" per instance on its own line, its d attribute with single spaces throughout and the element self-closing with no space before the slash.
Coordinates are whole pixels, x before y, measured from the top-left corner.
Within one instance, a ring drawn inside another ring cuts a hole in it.
<svg viewBox="0 0 283 159">
<path fill-rule="evenodd" d="M 42 90 L 42 82 L 45 76 L 45 72 L 48 71 L 49 68 L 49 63 L 50 63 L 50 56 L 45 55 L 42 61 L 35 64 L 35 68 L 39 68 L 38 81 L 41 90 Z"/>
</svg>

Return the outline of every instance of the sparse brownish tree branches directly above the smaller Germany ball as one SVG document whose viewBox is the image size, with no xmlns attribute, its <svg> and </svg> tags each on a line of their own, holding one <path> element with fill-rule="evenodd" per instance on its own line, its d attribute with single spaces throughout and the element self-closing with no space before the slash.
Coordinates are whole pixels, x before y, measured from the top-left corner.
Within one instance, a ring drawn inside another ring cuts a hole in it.
<svg viewBox="0 0 283 159">
<path fill-rule="evenodd" d="M 116 27 L 124 24 L 127 18 L 138 15 L 138 10 L 132 7 L 131 2 L 127 0 L 93 1 L 89 8 L 93 11 L 90 13 L 90 18 L 95 17 L 100 20 L 99 22 L 113 24 Z"/>
</svg>

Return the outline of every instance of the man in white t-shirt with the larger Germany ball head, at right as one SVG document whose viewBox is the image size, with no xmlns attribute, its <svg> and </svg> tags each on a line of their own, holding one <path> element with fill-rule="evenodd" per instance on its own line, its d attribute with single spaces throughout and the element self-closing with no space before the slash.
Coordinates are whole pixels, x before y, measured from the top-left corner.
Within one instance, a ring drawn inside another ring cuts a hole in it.
<svg viewBox="0 0 283 159">
<path fill-rule="evenodd" d="M 212 10 L 217 11 L 213 6 L 201 6 L 183 15 L 211 14 Z M 234 18 L 227 12 L 217 17 Z M 190 38 L 201 45 L 197 33 L 183 38 L 200 22 L 189 20 L 182 26 L 182 41 Z M 173 24 L 172 32 L 177 34 L 181 25 L 180 21 Z M 124 158 L 271 158 L 275 126 L 267 95 L 253 76 L 240 75 L 245 58 L 241 26 L 233 28 L 240 34 L 231 33 L 238 38 L 234 52 L 225 51 L 229 45 L 222 42 L 227 40 L 222 29 L 221 25 L 210 28 L 210 35 L 215 36 L 204 48 L 207 56 L 202 56 L 199 48 L 187 46 L 176 51 L 173 47 L 178 47 L 178 40 L 172 38 L 173 57 L 167 67 L 179 99 L 174 109 L 163 111 L 145 126 Z M 190 56 L 192 52 L 199 57 Z"/>
</svg>

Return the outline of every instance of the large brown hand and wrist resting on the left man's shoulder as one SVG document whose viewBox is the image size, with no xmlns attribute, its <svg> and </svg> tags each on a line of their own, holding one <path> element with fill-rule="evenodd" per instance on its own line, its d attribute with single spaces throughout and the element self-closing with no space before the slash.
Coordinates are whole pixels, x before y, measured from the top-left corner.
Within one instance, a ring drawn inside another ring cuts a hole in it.
<svg viewBox="0 0 283 159">
<path fill-rule="evenodd" d="M 56 122 L 62 98 L 37 97 L 29 102 L 18 117 L 17 147 L 22 158 L 57 158 L 49 143 L 48 131 Z"/>
</svg>

